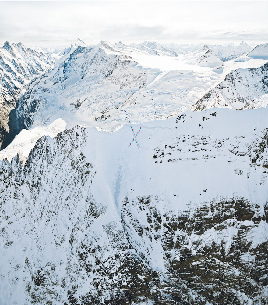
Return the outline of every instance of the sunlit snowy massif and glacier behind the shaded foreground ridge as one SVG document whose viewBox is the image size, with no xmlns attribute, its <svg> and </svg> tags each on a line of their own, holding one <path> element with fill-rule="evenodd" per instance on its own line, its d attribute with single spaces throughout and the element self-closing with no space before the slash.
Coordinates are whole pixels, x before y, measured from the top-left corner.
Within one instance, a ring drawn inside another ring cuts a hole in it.
<svg viewBox="0 0 268 305">
<path fill-rule="evenodd" d="M 0 158 L 11 160 L 18 152 L 26 158 L 38 135 L 53 136 L 77 124 L 115 131 L 128 123 L 166 119 L 189 109 L 231 70 L 266 63 L 247 56 L 222 62 L 206 45 L 172 56 L 155 43 L 145 44 L 157 52 L 122 42 L 86 46 L 78 39 L 61 55 L 56 68 L 26 89 L 22 108 L 27 130 L 1 151 Z"/>
</svg>

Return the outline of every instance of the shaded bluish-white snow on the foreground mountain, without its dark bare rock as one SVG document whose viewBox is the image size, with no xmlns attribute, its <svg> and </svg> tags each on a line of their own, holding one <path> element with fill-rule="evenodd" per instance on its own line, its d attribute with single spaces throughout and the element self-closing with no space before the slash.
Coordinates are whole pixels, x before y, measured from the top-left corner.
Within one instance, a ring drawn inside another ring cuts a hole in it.
<svg viewBox="0 0 268 305">
<path fill-rule="evenodd" d="M 93 269 L 97 268 L 96 256 L 102 264 L 106 260 L 108 264 L 108 258 L 114 253 L 119 253 L 120 257 L 122 248 L 114 247 L 105 228 L 112 226 L 114 232 L 121 232 L 122 215 L 128 224 L 130 251 L 164 278 L 168 263 L 160 242 L 161 231 L 155 239 L 149 239 L 150 234 L 154 237 L 150 232 L 149 235 L 138 235 L 133 220 L 149 227 L 146 216 L 149 209 L 131 205 L 130 210 L 125 211 L 126 197 L 129 203 L 135 203 L 140 196 L 150 196 L 163 220 L 165 214 L 178 215 L 188 206 L 197 207 L 223 198 L 248 199 L 253 205 L 258 204 L 263 214 L 268 198 L 267 173 L 263 174 L 263 168 L 258 165 L 267 162 L 267 147 L 255 166 L 249 166 L 249 163 L 267 127 L 267 118 L 268 109 L 213 108 L 203 112 L 187 111 L 167 120 L 126 124 L 112 133 L 88 127 L 84 138 L 81 127 L 56 139 L 43 138 L 43 142 L 36 145 L 36 151 L 32 151 L 32 158 L 35 158 L 31 170 L 33 178 L 24 178 L 37 179 L 38 186 L 31 188 L 31 182 L 16 186 L 16 197 L 19 198 L 16 205 L 12 197 L 14 186 L 10 184 L 5 189 L 2 207 L 9 218 L 2 226 L 5 236 L 12 242 L 4 237 L 1 239 L 1 245 L 7 242 L 8 245 L 1 247 L 0 301 L 28 304 L 25 285 L 31 281 L 31 274 L 37 274 L 40 267 L 51 266 L 54 270 L 49 279 L 53 284 L 57 282 L 50 288 L 56 289 L 53 304 L 60 304 L 66 298 L 66 289 L 61 289 L 58 284 L 63 278 L 67 288 L 76 287 L 77 295 L 85 294 L 90 287 L 93 293 L 92 281 L 96 272 L 86 273 L 79 267 L 77 250 L 81 242 L 90 244 L 91 249 L 96 247 L 97 252 L 88 254 Z M 135 134 L 141 128 L 137 136 L 140 148 L 135 144 L 129 147 L 133 138 L 131 127 Z M 81 144 L 70 150 L 71 159 L 63 162 L 64 152 L 60 149 L 68 145 L 72 147 L 72 136 Z M 154 154 L 158 157 L 154 158 Z M 70 167 L 78 158 L 82 167 L 76 163 Z M 14 170 L 17 166 L 15 159 L 12 163 Z M 92 164 L 95 174 L 92 183 L 81 185 L 76 175 L 85 170 L 86 162 Z M 29 160 L 29 164 L 26 163 L 28 169 L 30 164 Z M 75 182 L 79 184 L 75 185 Z M 87 210 L 90 202 L 95 202 L 103 213 L 88 223 L 85 215 L 90 216 Z M 234 225 L 223 231 L 208 230 L 200 237 L 187 235 L 188 247 L 194 249 L 192 242 L 199 238 L 200 249 L 214 242 L 225 245 L 227 253 L 237 228 L 249 225 L 247 221 L 232 221 Z M 248 237 L 255 246 L 267 240 L 267 226 L 264 221 L 259 225 L 252 223 Z M 72 236 L 75 237 L 73 244 L 69 242 Z M 171 253 L 171 258 L 178 255 Z M 245 256 L 240 259 L 245 260 Z M 232 272 L 239 273 L 239 270 L 233 268 Z M 45 286 L 39 288 L 39 293 L 44 293 L 39 296 L 50 300 L 45 289 Z"/>
</svg>

